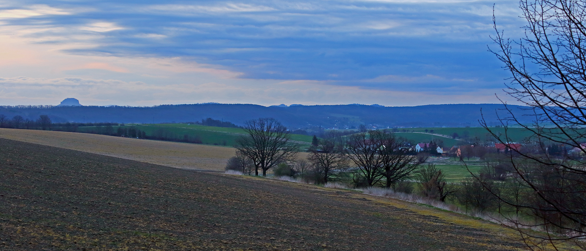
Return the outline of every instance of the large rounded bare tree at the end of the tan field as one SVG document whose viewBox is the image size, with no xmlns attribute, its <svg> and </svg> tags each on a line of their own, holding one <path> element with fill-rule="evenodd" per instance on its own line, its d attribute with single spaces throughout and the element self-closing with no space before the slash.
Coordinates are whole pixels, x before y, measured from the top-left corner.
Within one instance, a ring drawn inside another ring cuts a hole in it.
<svg viewBox="0 0 586 251">
<path fill-rule="evenodd" d="M 236 140 L 236 149 L 254 163 L 254 173 L 267 170 L 297 156 L 298 146 L 291 141 L 287 128 L 273 118 L 253 119 L 244 123 L 246 136 Z"/>
</svg>

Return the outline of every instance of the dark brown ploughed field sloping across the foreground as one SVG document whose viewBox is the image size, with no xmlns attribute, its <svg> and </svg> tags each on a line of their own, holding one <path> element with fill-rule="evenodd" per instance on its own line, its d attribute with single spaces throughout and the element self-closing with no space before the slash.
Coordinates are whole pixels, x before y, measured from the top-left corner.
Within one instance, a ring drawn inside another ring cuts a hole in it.
<svg viewBox="0 0 586 251">
<path fill-rule="evenodd" d="M 406 202 L 6 139 L 0 177 L 1 250 L 520 247 L 498 225 Z"/>
</svg>

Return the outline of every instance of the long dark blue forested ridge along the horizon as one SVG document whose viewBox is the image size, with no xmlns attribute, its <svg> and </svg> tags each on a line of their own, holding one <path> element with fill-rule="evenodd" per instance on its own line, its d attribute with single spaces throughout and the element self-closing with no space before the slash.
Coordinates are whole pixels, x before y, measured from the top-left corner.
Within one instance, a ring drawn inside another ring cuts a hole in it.
<svg viewBox="0 0 586 251">
<path fill-rule="evenodd" d="M 77 99 L 76 99 L 77 100 Z M 70 103 L 67 103 L 70 104 Z M 79 104 L 79 102 L 77 102 Z M 459 127 L 478 126 L 482 114 L 492 124 L 506 117 L 502 104 L 448 104 L 421 106 L 376 105 L 290 105 L 261 106 L 251 104 L 191 104 L 132 106 L 0 106 L 0 114 L 12 118 L 21 115 L 25 119 L 37 119 L 49 115 L 53 122 L 118 122 L 161 123 L 192 122 L 212 118 L 243 125 L 255 118 L 272 117 L 289 128 L 344 128 L 345 126 L 378 125 L 398 127 Z M 526 106 L 510 105 L 516 115 L 529 114 Z M 530 121 L 530 117 L 520 116 Z"/>
</svg>

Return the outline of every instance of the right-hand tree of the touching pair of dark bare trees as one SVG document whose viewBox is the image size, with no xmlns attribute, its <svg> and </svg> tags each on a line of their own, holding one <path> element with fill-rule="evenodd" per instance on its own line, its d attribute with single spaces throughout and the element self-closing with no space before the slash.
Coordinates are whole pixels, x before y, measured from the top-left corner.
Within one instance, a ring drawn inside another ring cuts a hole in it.
<svg viewBox="0 0 586 251">
<path fill-rule="evenodd" d="M 381 132 L 377 135 L 380 140 L 380 174 L 385 179 L 387 188 L 394 187 L 397 181 L 404 180 L 414 174 L 423 163 L 417 156 L 408 154 L 411 150 L 404 139 L 393 133 Z"/>
</svg>

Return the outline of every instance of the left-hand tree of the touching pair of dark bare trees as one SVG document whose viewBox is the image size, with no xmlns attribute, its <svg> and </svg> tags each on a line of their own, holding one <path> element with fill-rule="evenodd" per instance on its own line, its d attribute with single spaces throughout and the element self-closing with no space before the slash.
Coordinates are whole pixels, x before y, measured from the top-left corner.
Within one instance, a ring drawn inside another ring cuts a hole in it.
<svg viewBox="0 0 586 251">
<path fill-rule="evenodd" d="M 346 142 L 345 154 L 355 164 L 355 174 L 364 178 L 368 185 L 374 185 L 383 177 L 380 172 L 380 133 L 376 130 L 356 133 Z"/>
</svg>

